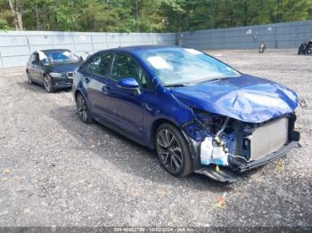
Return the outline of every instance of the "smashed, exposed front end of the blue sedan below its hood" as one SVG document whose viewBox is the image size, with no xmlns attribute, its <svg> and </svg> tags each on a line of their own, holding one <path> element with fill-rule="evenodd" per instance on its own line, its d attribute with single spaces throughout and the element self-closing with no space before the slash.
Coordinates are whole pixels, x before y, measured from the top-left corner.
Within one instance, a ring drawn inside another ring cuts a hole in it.
<svg viewBox="0 0 312 233">
<path fill-rule="evenodd" d="M 194 172 L 234 182 L 242 173 L 283 156 L 297 145 L 294 112 L 262 123 L 243 122 L 192 108 L 193 119 L 181 125 L 190 143 Z"/>
</svg>

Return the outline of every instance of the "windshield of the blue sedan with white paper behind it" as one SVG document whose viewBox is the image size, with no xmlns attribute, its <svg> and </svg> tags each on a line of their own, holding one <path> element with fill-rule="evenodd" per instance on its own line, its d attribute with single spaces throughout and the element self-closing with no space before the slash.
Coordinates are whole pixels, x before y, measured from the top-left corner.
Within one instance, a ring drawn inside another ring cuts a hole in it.
<svg viewBox="0 0 312 233">
<path fill-rule="evenodd" d="M 241 76 L 225 63 L 193 49 L 152 50 L 140 56 L 165 86 Z"/>
</svg>

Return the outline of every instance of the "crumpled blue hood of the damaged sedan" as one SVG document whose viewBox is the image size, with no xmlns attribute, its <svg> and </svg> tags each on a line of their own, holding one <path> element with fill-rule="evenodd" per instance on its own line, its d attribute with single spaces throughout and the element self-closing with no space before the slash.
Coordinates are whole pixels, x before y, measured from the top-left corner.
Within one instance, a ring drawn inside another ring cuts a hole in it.
<svg viewBox="0 0 312 233">
<path fill-rule="evenodd" d="M 175 87 L 170 92 L 189 107 L 249 123 L 291 113 L 298 106 L 297 94 L 287 87 L 248 75 Z"/>
</svg>

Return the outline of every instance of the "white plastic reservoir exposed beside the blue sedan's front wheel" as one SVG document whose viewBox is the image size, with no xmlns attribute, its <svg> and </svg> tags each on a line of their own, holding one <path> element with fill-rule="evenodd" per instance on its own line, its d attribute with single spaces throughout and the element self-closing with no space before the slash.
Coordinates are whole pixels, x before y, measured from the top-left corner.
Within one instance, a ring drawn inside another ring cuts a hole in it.
<svg viewBox="0 0 312 233">
<path fill-rule="evenodd" d="M 214 146 L 212 138 L 205 138 L 201 142 L 201 165 L 228 165 L 228 155 L 223 147 Z"/>
</svg>

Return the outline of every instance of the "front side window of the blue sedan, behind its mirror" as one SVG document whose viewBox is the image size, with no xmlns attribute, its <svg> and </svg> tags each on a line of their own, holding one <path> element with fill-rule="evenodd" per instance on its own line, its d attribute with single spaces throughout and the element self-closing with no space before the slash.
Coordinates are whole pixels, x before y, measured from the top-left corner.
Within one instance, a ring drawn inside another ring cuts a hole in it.
<svg viewBox="0 0 312 233">
<path fill-rule="evenodd" d="M 147 77 L 135 60 L 125 54 L 116 54 L 111 68 L 111 78 L 119 81 L 124 77 L 133 77 L 142 88 L 147 88 Z"/>
</svg>

